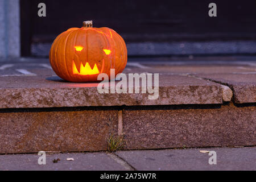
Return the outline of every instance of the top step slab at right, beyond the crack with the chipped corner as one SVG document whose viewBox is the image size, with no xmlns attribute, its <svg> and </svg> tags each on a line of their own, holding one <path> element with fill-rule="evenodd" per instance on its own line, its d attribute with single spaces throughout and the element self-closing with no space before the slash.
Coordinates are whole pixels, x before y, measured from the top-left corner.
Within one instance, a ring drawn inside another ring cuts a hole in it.
<svg viewBox="0 0 256 182">
<path fill-rule="evenodd" d="M 158 59 L 156 59 L 158 60 Z M 158 60 L 159 61 L 159 60 Z M 247 61 L 180 61 L 156 63 L 141 61 L 147 67 L 147 72 L 162 73 L 162 75 L 193 75 L 220 82 L 233 89 L 234 102 L 237 104 L 256 102 L 256 64 Z M 135 68 L 136 69 L 136 68 Z M 137 68 L 137 70 L 139 70 Z"/>
</svg>

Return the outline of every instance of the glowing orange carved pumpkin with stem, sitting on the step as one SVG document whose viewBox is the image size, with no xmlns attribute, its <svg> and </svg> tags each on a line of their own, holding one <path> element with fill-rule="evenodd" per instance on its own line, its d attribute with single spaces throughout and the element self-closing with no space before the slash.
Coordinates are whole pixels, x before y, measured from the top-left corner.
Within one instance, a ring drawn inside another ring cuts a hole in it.
<svg viewBox="0 0 256 182">
<path fill-rule="evenodd" d="M 97 82 L 100 73 L 122 73 L 127 49 L 122 37 L 110 28 L 93 28 L 92 21 L 82 28 L 69 28 L 52 44 L 49 60 L 53 71 L 71 82 Z M 115 75 L 115 76 L 116 76 Z"/>
</svg>

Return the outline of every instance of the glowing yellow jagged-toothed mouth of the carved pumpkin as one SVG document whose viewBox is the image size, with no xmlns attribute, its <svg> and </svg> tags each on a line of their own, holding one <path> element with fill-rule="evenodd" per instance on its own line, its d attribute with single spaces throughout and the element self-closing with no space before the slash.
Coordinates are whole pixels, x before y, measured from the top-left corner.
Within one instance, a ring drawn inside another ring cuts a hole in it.
<svg viewBox="0 0 256 182">
<path fill-rule="evenodd" d="M 73 74 L 75 75 L 97 75 L 100 74 L 100 71 L 98 71 L 98 67 L 96 64 L 94 64 L 93 69 L 90 67 L 90 64 L 87 62 L 84 65 L 82 65 L 82 62 L 80 63 L 80 72 L 76 68 L 76 64 L 73 61 Z"/>
</svg>

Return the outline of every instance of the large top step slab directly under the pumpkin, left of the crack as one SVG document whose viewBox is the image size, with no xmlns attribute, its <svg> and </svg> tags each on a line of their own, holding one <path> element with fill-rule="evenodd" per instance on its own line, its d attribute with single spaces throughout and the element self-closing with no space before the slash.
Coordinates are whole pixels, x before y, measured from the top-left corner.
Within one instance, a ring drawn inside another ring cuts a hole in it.
<svg viewBox="0 0 256 182">
<path fill-rule="evenodd" d="M 45 61 L 0 64 L 0 108 L 222 104 L 221 85 L 211 81 L 162 74 L 158 99 L 148 100 L 152 94 L 100 94 L 97 83 L 65 82 Z M 138 64 L 126 69 L 150 71 Z"/>
</svg>

